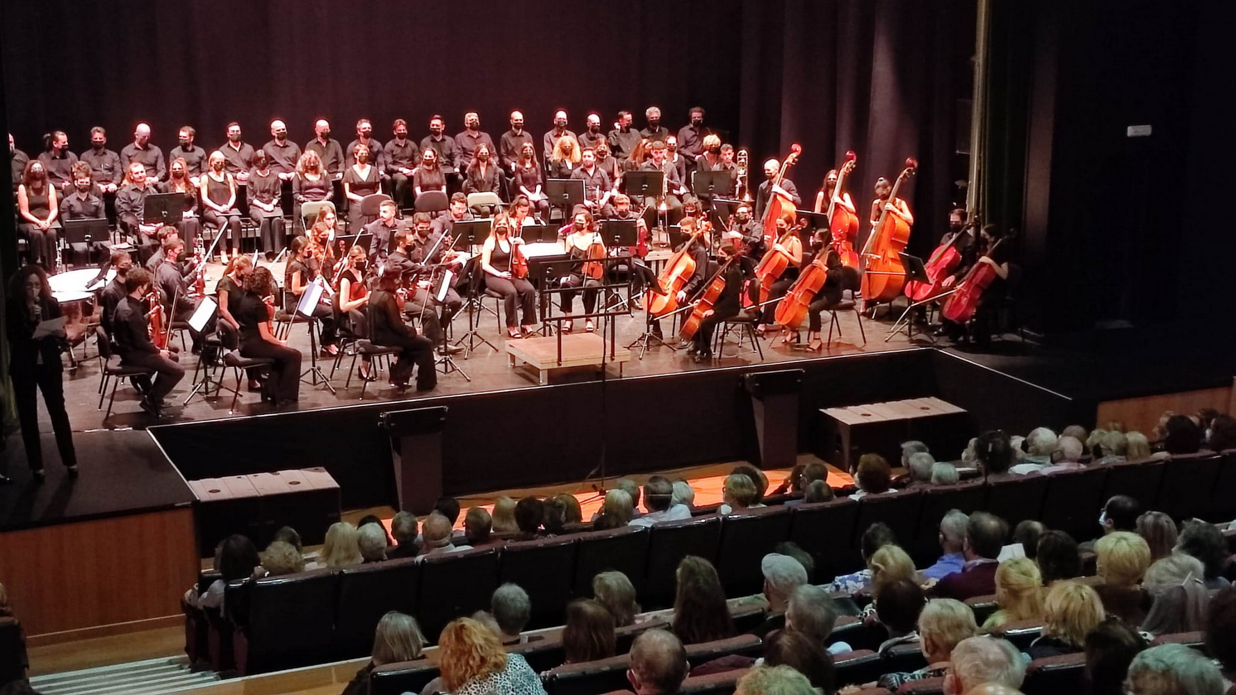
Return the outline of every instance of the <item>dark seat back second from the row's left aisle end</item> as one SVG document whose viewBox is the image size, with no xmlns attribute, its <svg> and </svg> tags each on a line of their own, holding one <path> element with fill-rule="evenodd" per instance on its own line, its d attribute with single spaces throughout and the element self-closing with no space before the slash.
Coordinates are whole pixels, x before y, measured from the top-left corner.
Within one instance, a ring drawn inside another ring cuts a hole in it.
<svg viewBox="0 0 1236 695">
<path fill-rule="evenodd" d="M 388 611 L 417 615 L 420 563 L 402 558 L 339 573 L 335 654 L 352 659 L 373 649 L 373 631 Z"/>
</svg>

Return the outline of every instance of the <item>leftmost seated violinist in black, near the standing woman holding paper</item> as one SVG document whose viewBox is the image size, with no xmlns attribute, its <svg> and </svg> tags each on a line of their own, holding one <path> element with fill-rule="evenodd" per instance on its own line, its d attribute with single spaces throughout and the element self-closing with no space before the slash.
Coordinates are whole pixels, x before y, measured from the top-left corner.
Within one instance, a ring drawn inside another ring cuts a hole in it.
<svg viewBox="0 0 1236 695">
<path fill-rule="evenodd" d="M 156 372 L 153 382 L 142 398 L 141 408 L 159 417 L 164 398 L 184 378 L 184 367 L 177 362 L 174 352 L 159 350 L 151 340 L 150 322 L 146 318 L 147 308 L 143 302 L 150 288 L 151 275 L 146 272 L 146 268 L 129 268 L 129 273 L 125 276 L 127 294 L 116 305 L 111 326 L 120 364 Z"/>
</svg>

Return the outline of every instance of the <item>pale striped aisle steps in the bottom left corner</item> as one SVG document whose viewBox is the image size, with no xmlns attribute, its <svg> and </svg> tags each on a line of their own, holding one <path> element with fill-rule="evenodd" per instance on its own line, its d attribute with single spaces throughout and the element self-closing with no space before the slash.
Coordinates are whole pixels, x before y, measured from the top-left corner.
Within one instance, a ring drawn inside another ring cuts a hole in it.
<svg viewBox="0 0 1236 695">
<path fill-rule="evenodd" d="M 219 680 L 211 672 L 189 670 L 184 657 L 147 659 L 30 679 L 42 695 L 162 695 Z"/>
</svg>

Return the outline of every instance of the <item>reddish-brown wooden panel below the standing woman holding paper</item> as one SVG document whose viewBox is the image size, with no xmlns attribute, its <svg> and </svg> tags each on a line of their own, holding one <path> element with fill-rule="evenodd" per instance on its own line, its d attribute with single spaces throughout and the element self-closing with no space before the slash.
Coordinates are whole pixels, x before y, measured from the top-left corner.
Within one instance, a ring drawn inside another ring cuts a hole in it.
<svg viewBox="0 0 1236 695">
<path fill-rule="evenodd" d="M 30 636 L 176 616 L 199 566 L 189 507 L 0 534 L 0 581 Z"/>
</svg>

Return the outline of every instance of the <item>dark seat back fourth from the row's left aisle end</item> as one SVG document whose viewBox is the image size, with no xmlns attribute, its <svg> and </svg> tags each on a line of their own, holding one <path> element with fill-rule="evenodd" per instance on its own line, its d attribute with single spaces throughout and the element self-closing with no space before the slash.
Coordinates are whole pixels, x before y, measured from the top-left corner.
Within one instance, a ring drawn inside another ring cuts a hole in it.
<svg viewBox="0 0 1236 695">
<path fill-rule="evenodd" d="M 514 582 L 528 592 L 529 629 L 562 625 L 575 578 L 575 535 L 509 543 L 498 559 L 498 584 Z"/>
</svg>

